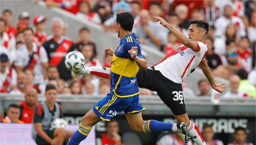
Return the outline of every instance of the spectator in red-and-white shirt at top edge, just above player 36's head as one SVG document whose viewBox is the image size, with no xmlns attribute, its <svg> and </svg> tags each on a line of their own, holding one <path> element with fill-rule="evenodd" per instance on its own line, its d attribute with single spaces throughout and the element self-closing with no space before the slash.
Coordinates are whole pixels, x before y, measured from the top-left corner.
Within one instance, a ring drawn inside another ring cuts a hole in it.
<svg viewBox="0 0 256 145">
<path fill-rule="evenodd" d="M 204 18 L 209 25 L 213 25 L 215 20 L 219 18 L 219 7 L 214 4 L 214 0 L 206 0 L 203 5 Z"/>
</svg>

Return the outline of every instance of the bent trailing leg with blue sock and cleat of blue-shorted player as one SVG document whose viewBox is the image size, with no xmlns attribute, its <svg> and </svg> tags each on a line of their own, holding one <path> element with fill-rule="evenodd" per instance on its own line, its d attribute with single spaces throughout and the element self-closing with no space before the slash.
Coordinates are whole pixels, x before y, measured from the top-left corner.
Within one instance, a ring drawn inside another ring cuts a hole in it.
<svg viewBox="0 0 256 145">
<path fill-rule="evenodd" d="M 141 112 L 138 114 L 126 114 L 126 118 L 128 123 L 130 124 L 131 128 L 135 132 L 163 132 L 163 131 L 173 131 L 179 132 L 182 139 L 188 143 L 189 142 L 189 132 L 188 126 L 184 122 L 178 123 L 167 123 L 167 122 L 160 122 L 156 120 L 147 120 L 143 121 Z"/>
</svg>

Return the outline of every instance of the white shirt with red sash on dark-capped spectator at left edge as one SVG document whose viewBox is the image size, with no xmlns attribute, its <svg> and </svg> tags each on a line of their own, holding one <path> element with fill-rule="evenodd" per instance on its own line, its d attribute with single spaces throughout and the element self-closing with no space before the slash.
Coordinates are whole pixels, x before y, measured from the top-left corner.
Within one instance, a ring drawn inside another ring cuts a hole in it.
<svg viewBox="0 0 256 145">
<path fill-rule="evenodd" d="M 2 74 L 0 73 L 0 81 L 1 81 L 1 87 L 0 92 L 1 93 L 7 93 L 11 90 L 11 86 L 15 86 L 17 84 L 17 73 L 13 68 L 6 68 L 5 72 Z"/>
</svg>

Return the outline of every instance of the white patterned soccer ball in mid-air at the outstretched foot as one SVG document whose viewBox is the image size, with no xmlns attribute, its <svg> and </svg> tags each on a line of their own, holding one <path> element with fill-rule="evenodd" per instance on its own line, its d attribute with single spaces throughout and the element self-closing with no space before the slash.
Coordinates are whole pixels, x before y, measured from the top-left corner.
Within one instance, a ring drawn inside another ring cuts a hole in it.
<svg viewBox="0 0 256 145">
<path fill-rule="evenodd" d="M 71 51 L 65 57 L 65 66 L 69 71 L 80 71 L 85 63 L 84 56 L 81 52 Z"/>
</svg>

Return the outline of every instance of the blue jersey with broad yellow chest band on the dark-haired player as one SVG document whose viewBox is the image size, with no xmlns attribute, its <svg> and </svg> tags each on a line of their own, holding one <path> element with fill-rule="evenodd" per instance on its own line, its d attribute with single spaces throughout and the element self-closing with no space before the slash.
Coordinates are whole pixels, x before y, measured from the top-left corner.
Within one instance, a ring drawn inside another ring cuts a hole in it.
<svg viewBox="0 0 256 145">
<path fill-rule="evenodd" d="M 134 33 L 122 38 L 113 54 L 110 90 L 118 97 L 131 97 L 140 93 L 136 78 L 139 67 L 128 53 L 133 46 L 138 48 L 137 56 L 143 58 L 140 42 Z"/>
</svg>

